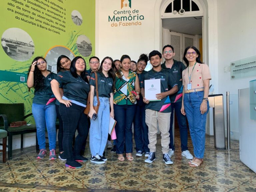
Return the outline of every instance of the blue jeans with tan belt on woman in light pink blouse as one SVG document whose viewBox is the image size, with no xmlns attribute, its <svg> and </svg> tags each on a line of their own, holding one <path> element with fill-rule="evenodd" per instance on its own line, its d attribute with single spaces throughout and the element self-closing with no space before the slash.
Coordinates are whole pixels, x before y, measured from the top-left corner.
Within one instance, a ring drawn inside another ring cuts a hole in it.
<svg viewBox="0 0 256 192">
<path fill-rule="evenodd" d="M 207 112 L 201 114 L 200 105 L 203 102 L 203 97 L 204 91 L 184 94 L 184 108 L 188 118 L 192 144 L 194 146 L 194 155 L 199 159 L 204 158 L 205 125 L 209 111 L 209 102 L 207 101 Z"/>
</svg>

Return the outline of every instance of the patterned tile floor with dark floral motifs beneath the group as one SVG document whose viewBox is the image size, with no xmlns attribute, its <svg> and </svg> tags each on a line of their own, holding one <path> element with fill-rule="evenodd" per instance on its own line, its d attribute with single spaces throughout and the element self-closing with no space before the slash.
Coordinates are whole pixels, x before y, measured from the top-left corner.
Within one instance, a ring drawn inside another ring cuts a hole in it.
<svg viewBox="0 0 256 192">
<path fill-rule="evenodd" d="M 178 132 L 178 131 L 177 131 Z M 14 158 L 0 163 L 0 192 L 52 191 L 256 191 L 256 173 L 239 160 L 239 143 L 231 141 L 231 150 L 215 150 L 212 136 L 206 136 L 204 164 L 191 168 L 181 156 L 179 136 L 176 135 L 173 165 L 162 161 L 160 136 L 157 141 L 157 160 L 144 163 L 145 157 L 134 161 L 117 160 L 106 149 L 108 161 L 103 165 L 83 163 L 81 169 L 66 168 L 65 162 L 35 159 L 35 147 L 15 150 Z M 90 151 L 85 152 L 89 158 Z M 190 151 L 193 152 L 191 140 Z M 48 152 L 49 153 L 49 152 Z M 135 152 L 133 152 L 135 156 Z M 0 159 L 2 156 L 0 155 Z M 1 161 L 2 162 L 2 161 Z"/>
</svg>

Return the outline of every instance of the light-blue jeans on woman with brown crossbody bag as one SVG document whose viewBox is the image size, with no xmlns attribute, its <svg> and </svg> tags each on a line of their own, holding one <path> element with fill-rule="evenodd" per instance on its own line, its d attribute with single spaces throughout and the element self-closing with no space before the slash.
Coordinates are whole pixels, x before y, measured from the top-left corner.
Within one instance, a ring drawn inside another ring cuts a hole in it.
<svg viewBox="0 0 256 192">
<path fill-rule="evenodd" d="M 98 117 L 95 120 L 91 119 L 90 126 L 90 150 L 92 156 L 96 156 L 96 154 L 102 156 L 108 140 L 110 118 L 109 98 L 99 97 L 99 100 Z M 94 97 L 93 106 L 96 106 L 97 103 L 97 97 Z"/>
</svg>

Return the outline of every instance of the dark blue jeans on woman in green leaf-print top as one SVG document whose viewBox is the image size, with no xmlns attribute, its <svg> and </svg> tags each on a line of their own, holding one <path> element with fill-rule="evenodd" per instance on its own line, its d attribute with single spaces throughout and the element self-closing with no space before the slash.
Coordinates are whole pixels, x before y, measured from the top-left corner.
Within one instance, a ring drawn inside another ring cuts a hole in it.
<svg viewBox="0 0 256 192">
<path fill-rule="evenodd" d="M 116 153 L 132 153 L 132 122 L 135 115 L 136 105 L 116 105 L 114 104 L 114 113 L 116 120 Z"/>
</svg>

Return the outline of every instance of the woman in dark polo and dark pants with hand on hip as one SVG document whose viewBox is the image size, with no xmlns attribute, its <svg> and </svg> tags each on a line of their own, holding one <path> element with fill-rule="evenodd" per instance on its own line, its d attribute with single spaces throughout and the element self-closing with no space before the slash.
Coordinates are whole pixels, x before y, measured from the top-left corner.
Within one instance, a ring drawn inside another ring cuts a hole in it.
<svg viewBox="0 0 256 192">
<path fill-rule="evenodd" d="M 90 85 L 85 73 L 85 60 L 78 56 L 71 61 L 70 71 L 59 72 L 51 82 L 52 91 L 60 102 L 59 112 L 63 121 L 63 149 L 66 157 L 66 167 L 81 168 L 79 162 L 88 161 L 80 155 L 82 144 L 85 142 L 89 127 L 88 118 L 84 114 Z M 63 96 L 59 86 L 63 87 Z M 74 151 L 72 141 L 76 136 Z"/>
</svg>

